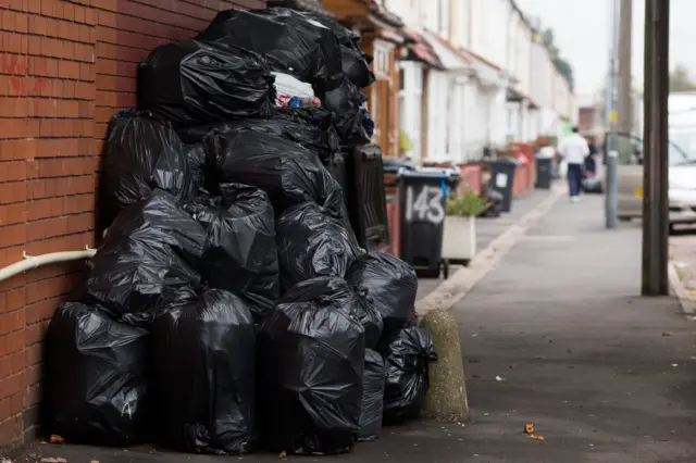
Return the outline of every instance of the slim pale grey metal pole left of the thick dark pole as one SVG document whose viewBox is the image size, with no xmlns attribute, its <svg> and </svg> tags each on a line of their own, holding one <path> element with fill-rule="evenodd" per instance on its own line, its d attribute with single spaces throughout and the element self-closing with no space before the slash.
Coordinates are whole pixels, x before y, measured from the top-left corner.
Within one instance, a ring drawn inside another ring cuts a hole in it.
<svg viewBox="0 0 696 463">
<path fill-rule="evenodd" d="M 611 46 L 609 47 L 609 76 L 607 82 L 607 122 L 609 123 L 609 136 L 605 142 L 605 160 L 607 164 L 607 195 L 605 196 L 605 222 L 607 228 L 617 227 L 617 209 L 618 209 L 618 170 L 619 159 L 617 152 L 616 137 L 616 89 L 617 89 L 617 41 L 618 41 L 618 0 L 611 2 Z M 630 26 L 629 26 L 630 28 Z"/>
</svg>

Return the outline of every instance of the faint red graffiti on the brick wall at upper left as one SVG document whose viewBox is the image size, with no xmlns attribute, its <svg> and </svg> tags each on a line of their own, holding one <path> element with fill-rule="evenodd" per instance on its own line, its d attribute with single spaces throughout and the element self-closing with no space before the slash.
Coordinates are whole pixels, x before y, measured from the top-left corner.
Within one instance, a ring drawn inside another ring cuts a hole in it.
<svg viewBox="0 0 696 463">
<path fill-rule="evenodd" d="M 14 95 L 39 96 L 48 87 L 46 60 L 8 52 L 4 37 L 0 37 L 0 74 L 9 76 L 9 84 Z M 26 85 L 26 77 L 33 77 L 33 85 Z"/>
</svg>

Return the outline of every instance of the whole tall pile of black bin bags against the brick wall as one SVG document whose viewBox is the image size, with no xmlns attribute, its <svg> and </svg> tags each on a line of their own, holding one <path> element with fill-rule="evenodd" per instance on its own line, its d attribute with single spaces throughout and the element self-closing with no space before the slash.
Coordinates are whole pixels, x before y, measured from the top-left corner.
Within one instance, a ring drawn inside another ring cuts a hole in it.
<svg viewBox="0 0 696 463">
<path fill-rule="evenodd" d="M 85 296 L 48 328 L 47 433 L 316 455 L 418 415 L 436 355 L 415 274 L 358 246 L 325 167 L 371 136 L 369 60 L 285 9 L 152 51 L 109 126 Z M 322 107 L 278 108 L 273 73 Z"/>
</svg>

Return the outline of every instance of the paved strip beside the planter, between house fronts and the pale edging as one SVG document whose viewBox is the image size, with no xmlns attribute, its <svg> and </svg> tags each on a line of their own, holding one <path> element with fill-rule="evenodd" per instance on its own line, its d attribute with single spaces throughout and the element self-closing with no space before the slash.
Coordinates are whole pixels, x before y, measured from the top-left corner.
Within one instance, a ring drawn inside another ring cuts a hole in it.
<svg viewBox="0 0 696 463">
<path fill-rule="evenodd" d="M 502 215 L 496 218 L 477 218 L 476 220 L 476 249 L 482 251 L 493 242 L 500 234 L 502 234 L 510 225 L 517 223 L 527 212 L 537 207 L 545 198 L 548 197 L 550 190 L 532 190 L 515 198 L 512 201 L 512 210 L 505 212 Z M 452 266 L 450 274 L 457 271 L 458 266 Z M 442 278 L 419 278 L 418 281 L 418 297 L 417 299 L 423 299 L 435 290 L 439 284 L 443 283 Z"/>
</svg>

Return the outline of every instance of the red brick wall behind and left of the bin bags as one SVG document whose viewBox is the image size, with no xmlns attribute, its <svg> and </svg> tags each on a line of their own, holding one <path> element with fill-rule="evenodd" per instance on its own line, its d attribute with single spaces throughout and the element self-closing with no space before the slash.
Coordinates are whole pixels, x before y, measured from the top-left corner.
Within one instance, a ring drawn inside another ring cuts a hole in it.
<svg viewBox="0 0 696 463">
<path fill-rule="evenodd" d="M 137 63 L 219 10 L 263 0 L 0 1 L 0 267 L 94 245 L 107 122 L 135 104 Z M 41 339 L 84 263 L 0 283 L 0 454 L 38 423 Z"/>
</svg>

